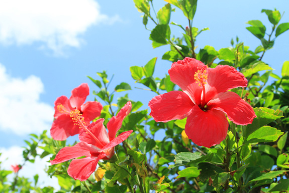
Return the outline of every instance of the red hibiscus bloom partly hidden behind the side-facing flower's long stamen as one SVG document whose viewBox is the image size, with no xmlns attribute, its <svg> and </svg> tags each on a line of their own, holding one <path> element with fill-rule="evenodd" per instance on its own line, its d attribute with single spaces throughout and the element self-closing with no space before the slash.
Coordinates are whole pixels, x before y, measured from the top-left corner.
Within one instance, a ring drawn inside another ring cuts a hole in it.
<svg viewBox="0 0 289 193">
<path fill-rule="evenodd" d="M 68 99 L 66 96 L 61 96 L 54 102 L 54 122 L 50 129 L 50 134 L 55 140 L 65 140 L 67 137 L 76 135 L 81 132 L 79 126 L 74 125 L 73 120 L 70 118 L 70 112 L 77 109 L 84 122 L 89 124 L 95 117 L 101 115 L 103 106 L 97 101 L 84 101 L 89 95 L 89 87 L 86 83 L 82 83 L 77 88 L 71 91 L 71 97 Z"/>
</svg>

